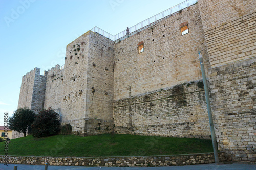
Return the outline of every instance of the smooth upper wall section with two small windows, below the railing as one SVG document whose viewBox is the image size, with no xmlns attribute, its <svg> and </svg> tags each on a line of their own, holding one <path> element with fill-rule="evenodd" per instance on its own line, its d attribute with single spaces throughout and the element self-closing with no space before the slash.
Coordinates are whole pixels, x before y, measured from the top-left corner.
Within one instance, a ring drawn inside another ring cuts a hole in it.
<svg viewBox="0 0 256 170">
<path fill-rule="evenodd" d="M 188 25 L 189 33 L 180 28 Z M 138 44 L 144 52 L 138 53 Z M 115 101 L 202 78 L 198 51 L 208 54 L 198 5 L 115 44 Z M 206 67 L 208 67 L 206 65 Z"/>
</svg>

